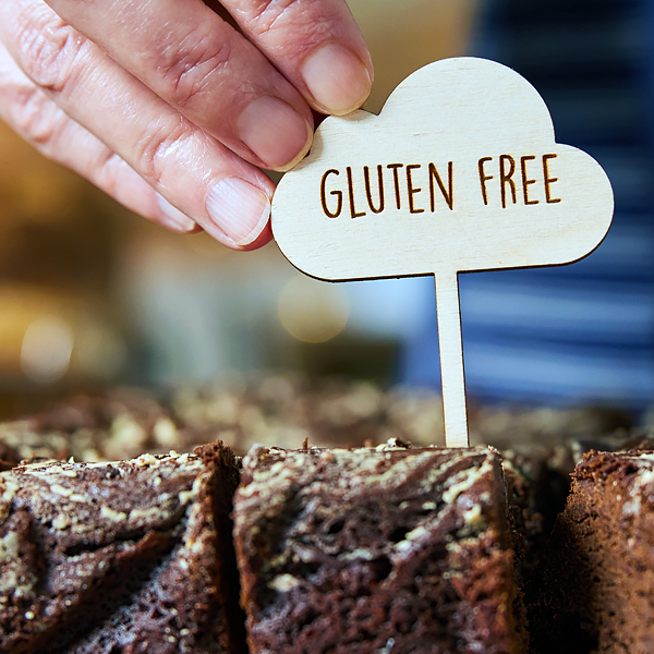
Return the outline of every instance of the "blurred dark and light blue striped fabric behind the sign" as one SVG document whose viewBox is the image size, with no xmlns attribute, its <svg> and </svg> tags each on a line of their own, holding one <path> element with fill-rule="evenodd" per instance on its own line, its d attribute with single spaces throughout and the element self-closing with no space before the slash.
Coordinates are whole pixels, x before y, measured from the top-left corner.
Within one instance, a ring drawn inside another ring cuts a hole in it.
<svg viewBox="0 0 654 654">
<path fill-rule="evenodd" d="M 654 2 L 489 2 L 475 53 L 524 75 L 557 141 L 607 171 L 614 225 L 571 266 L 460 276 L 471 396 L 644 409 L 654 399 Z M 405 382 L 437 385 L 436 320 Z"/>
</svg>

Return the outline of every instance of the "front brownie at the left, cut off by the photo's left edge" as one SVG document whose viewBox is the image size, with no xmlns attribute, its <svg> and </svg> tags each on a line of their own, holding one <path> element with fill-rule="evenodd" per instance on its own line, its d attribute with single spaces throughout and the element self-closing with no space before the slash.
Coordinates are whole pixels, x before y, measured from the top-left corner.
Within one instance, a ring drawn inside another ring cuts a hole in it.
<svg viewBox="0 0 654 654">
<path fill-rule="evenodd" d="M 244 652 L 221 444 L 0 474 L 0 651 Z"/>
</svg>

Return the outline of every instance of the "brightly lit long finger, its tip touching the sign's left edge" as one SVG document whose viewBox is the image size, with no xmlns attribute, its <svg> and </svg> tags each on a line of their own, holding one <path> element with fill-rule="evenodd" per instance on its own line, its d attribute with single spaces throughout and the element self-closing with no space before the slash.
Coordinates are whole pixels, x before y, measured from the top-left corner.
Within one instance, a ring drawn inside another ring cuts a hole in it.
<svg viewBox="0 0 654 654">
<path fill-rule="evenodd" d="M 269 238 L 272 182 L 39 0 L 2 0 L 0 38 L 50 100 L 214 238 L 241 250 Z"/>
</svg>

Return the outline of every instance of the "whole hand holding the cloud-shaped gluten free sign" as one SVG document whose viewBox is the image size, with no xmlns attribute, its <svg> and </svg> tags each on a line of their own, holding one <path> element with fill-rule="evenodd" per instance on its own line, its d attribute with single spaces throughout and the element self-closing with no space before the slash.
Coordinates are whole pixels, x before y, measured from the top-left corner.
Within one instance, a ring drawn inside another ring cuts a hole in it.
<svg viewBox="0 0 654 654">
<path fill-rule="evenodd" d="M 46 156 L 178 232 L 270 237 L 312 109 L 347 113 L 372 63 L 346 0 L 1 0 L 0 116 Z"/>
</svg>

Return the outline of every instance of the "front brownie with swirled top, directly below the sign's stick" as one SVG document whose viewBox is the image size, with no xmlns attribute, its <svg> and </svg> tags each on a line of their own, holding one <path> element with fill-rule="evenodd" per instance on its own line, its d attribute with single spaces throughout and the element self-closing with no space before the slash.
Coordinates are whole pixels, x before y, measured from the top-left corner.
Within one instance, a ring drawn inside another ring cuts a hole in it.
<svg viewBox="0 0 654 654">
<path fill-rule="evenodd" d="M 254 447 L 234 498 L 257 653 L 523 651 L 493 449 Z"/>
</svg>

